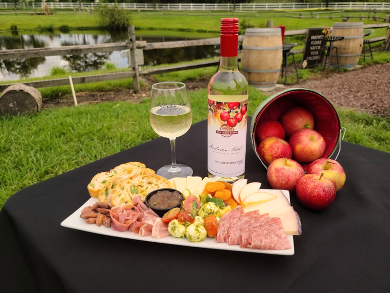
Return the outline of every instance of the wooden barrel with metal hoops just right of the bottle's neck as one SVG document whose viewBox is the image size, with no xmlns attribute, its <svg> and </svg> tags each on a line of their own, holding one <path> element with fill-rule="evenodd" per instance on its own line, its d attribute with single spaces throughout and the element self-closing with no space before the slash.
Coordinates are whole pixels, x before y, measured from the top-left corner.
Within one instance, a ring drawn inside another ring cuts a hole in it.
<svg viewBox="0 0 390 293">
<path fill-rule="evenodd" d="M 247 28 L 242 42 L 241 71 L 248 83 L 263 91 L 275 88 L 282 50 L 280 28 Z"/>
</svg>

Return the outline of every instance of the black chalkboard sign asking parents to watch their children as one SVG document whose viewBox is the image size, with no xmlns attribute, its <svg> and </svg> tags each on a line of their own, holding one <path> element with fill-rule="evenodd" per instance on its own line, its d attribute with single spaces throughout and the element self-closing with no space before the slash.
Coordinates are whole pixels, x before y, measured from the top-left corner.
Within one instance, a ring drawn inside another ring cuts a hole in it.
<svg viewBox="0 0 390 293">
<path fill-rule="evenodd" d="M 321 48 L 326 45 L 325 33 L 324 28 L 308 28 L 303 49 L 302 68 L 322 63 L 324 54 L 321 54 Z"/>
</svg>

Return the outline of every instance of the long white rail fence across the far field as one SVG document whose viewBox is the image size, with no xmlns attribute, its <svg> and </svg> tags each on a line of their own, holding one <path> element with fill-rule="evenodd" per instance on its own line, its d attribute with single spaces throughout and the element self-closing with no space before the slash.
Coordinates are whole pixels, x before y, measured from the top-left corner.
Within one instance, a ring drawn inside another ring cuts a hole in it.
<svg viewBox="0 0 390 293">
<path fill-rule="evenodd" d="M 97 3 L 79 3 L 75 2 L 46 2 L 51 9 L 96 9 Z M 111 6 L 114 3 L 106 3 Z M 17 3 L 17 9 L 41 9 L 42 3 Z M 326 3 L 118 3 L 119 7 L 129 10 L 176 10 L 176 11 L 257 11 L 257 10 L 284 10 L 284 9 L 307 9 L 307 8 L 325 8 Z M 370 10 L 390 9 L 390 2 L 330 2 L 328 7 L 331 9 L 360 9 Z M 14 9 L 13 2 L 0 3 L 0 9 Z"/>
</svg>

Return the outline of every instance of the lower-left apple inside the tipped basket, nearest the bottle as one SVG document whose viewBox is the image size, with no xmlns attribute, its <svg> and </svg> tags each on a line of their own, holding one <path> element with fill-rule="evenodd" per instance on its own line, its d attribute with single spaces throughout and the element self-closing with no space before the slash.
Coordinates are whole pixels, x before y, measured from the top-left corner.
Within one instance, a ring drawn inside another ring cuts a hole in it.
<svg viewBox="0 0 390 293">
<path fill-rule="evenodd" d="M 278 137 L 267 137 L 260 142 L 257 151 L 260 157 L 270 164 L 273 160 L 278 158 L 291 158 L 291 146 L 285 140 Z"/>
</svg>

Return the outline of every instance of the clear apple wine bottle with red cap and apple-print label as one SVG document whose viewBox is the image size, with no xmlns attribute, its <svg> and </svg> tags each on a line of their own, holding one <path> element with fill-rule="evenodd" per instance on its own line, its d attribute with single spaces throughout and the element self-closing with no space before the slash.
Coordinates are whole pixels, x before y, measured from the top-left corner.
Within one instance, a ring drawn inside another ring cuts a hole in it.
<svg viewBox="0 0 390 293">
<path fill-rule="evenodd" d="M 216 180 L 244 178 L 248 82 L 238 70 L 238 19 L 221 20 L 220 62 L 208 85 L 207 169 Z"/>
</svg>

